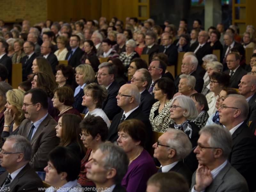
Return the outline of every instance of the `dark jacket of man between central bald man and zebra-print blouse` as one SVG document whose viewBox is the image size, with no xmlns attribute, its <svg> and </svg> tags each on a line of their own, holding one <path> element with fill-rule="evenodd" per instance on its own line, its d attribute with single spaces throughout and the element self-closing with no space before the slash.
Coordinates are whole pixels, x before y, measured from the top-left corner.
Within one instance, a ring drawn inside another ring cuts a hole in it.
<svg viewBox="0 0 256 192">
<path fill-rule="evenodd" d="M 140 94 L 140 109 L 147 117 L 149 117 L 150 110 L 155 102 L 156 100 L 147 89 Z"/>
</svg>

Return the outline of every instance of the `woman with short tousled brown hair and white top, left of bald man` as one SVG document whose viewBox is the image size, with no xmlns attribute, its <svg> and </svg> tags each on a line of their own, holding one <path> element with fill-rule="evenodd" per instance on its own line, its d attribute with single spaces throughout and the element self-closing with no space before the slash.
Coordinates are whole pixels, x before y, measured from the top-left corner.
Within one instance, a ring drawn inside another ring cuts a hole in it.
<svg viewBox="0 0 256 192">
<path fill-rule="evenodd" d="M 110 121 L 106 113 L 102 110 L 102 103 L 107 97 L 108 91 L 105 87 L 100 86 L 97 83 L 90 83 L 84 87 L 82 105 L 88 108 L 88 113 L 86 113 L 84 117 L 87 117 L 89 114 L 100 116 L 109 128 Z"/>
</svg>

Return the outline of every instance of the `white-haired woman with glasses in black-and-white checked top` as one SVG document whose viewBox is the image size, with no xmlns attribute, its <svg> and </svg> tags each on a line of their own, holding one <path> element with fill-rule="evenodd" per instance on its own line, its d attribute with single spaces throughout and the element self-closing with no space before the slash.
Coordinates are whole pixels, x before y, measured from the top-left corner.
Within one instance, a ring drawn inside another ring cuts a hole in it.
<svg viewBox="0 0 256 192">
<path fill-rule="evenodd" d="M 119 59 L 123 62 L 126 70 L 128 69 L 129 64 L 131 63 L 131 60 L 133 60 L 134 58 L 140 57 L 139 54 L 134 51 L 135 48 L 136 48 L 136 42 L 130 39 L 125 43 L 126 52 L 120 53 Z"/>
</svg>

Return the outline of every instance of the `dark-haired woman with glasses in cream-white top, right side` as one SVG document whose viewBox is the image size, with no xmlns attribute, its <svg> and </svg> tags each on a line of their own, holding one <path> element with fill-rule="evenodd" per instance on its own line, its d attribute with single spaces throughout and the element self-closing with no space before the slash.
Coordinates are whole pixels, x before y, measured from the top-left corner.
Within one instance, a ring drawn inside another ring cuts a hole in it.
<svg viewBox="0 0 256 192">
<path fill-rule="evenodd" d="M 226 73 L 213 72 L 210 78 L 210 91 L 206 95 L 208 103 L 208 114 L 211 116 L 217 108 L 215 108 L 216 99 L 220 91 L 229 85 L 230 76 Z"/>
</svg>

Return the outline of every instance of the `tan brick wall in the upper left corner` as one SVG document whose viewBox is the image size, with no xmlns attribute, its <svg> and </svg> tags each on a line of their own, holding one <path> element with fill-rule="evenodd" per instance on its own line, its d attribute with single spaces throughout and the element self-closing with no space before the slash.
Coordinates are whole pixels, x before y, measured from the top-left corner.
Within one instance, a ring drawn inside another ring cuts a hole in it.
<svg viewBox="0 0 256 192">
<path fill-rule="evenodd" d="M 33 26 L 47 20 L 47 0 L 0 0 L 0 19 L 5 22 L 29 20 Z"/>
</svg>

